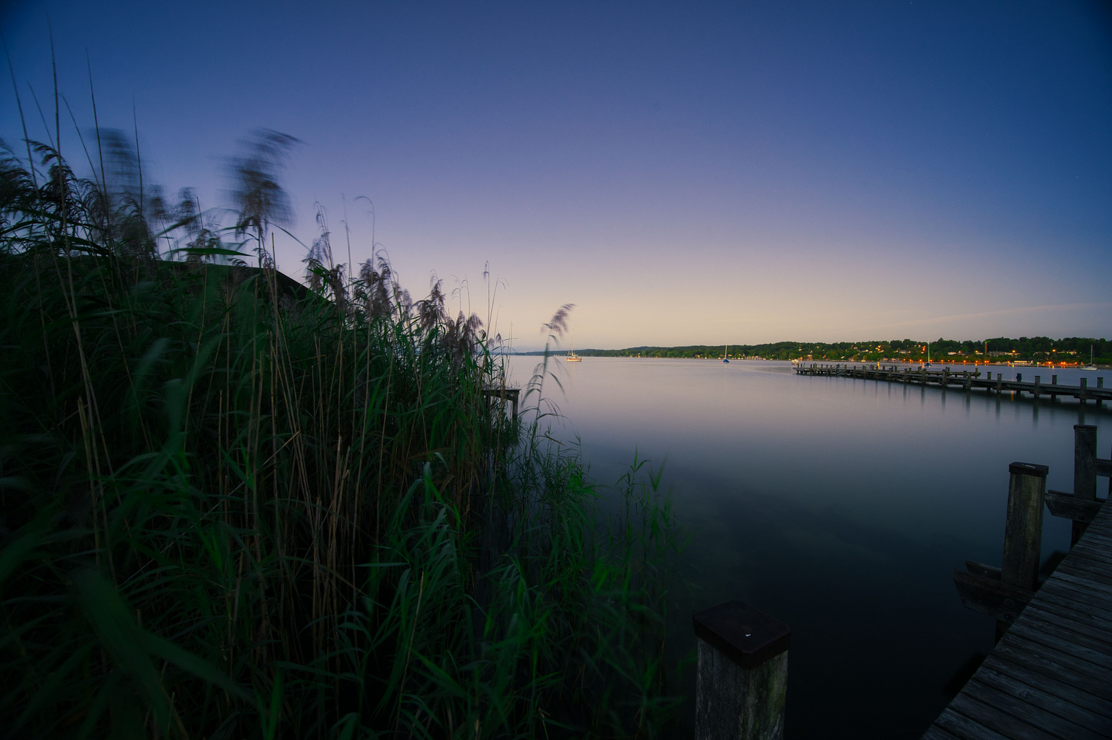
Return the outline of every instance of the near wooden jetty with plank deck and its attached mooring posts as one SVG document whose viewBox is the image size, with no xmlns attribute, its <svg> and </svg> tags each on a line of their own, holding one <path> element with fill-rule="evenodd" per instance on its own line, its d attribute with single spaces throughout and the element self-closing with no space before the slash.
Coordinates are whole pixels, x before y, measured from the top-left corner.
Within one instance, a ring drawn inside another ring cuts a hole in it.
<svg viewBox="0 0 1112 740">
<path fill-rule="evenodd" d="M 967 561 L 954 584 L 994 616 L 996 647 L 923 740 L 1112 738 L 1112 506 L 1096 497 L 1096 427 L 1074 427 L 1074 491 L 1046 491 L 1046 466 L 1012 463 L 1002 568 Z M 1043 504 L 1072 519 L 1069 554 L 1040 582 Z"/>
</svg>

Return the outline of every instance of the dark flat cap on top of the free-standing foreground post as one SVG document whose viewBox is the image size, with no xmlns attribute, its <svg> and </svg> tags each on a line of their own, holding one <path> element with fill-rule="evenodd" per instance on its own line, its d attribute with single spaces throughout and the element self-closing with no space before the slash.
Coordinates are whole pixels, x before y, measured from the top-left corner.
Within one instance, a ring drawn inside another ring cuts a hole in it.
<svg viewBox="0 0 1112 740">
<path fill-rule="evenodd" d="M 785 650 L 792 630 L 744 601 L 727 601 L 697 612 L 695 634 L 744 669 L 757 668 Z"/>
</svg>

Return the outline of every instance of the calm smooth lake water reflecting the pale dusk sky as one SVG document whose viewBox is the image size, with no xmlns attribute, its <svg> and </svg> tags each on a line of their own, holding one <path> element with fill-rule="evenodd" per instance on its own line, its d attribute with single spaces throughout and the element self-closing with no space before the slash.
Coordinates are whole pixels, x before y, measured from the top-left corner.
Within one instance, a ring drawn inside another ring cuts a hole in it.
<svg viewBox="0 0 1112 740">
<path fill-rule="evenodd" d="M 512 377 L 524 385 L 537 359 L 514 357 Z M 694 534 L 676 644 L 694 647 L 693 611 L 729 599 L 792 628 L 795 739 L 919 738 L 963 667 L 992 649 L 993 621 L 962 606 L 951 572 L 1000 564 L 1009 463 L 1049 465 L 1048 487 L 1072 491 L 1073 425 L 1099 426 L 1101 456 L 1112 447 L 1109 410 L 1090 403 L 1082 417 L 1072 398 L 801 377 L 786 362 L 552 364 L 564 394 L 547 392 L 566 417 L 554 436 L 578 435 L 594 481 L 613 484 L 635 451 L 664 465 Z M 1112 376 L 992 371 L 1071 385 Z M 1070 523 L 1046 513 L 1043 558 L 1069 539 Z"/>
</svg>

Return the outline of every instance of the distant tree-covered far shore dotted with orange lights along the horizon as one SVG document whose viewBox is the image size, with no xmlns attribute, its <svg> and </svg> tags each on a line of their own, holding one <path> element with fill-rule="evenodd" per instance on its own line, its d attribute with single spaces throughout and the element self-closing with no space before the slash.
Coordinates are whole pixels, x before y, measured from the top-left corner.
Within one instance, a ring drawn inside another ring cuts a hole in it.
<svg viewBox="0 0 1112 740">
<path fill-rule="evenodd" d="M 1086 364 L 1092 347 L 1093 359 L 1112 364 L 1112 342 L 1086 337 L 1020 337 L 1010 339 L 943 339 L 931 341 L 931 361 L 992 363 L 1014 361 L 1030 363 Z M 987 345 L 987 349 L 985 348 Z M 722 357 L 727 345 L 693 344 L 682 347 L 627 347 L 625 349 L 576 349 L 582 357 Z M 753 359 L 832 359 L 850 362 L 909 361 L 927 356 L 927 343 L 912 339 L 884 342 L 774 342 L 767 344 L 731 344 L 729 357 Z M 985 352 L 987 351 L 987 355 Z M 544 352 L 522 352 L 522 355 L 544 355 Z"/>
</svg>

